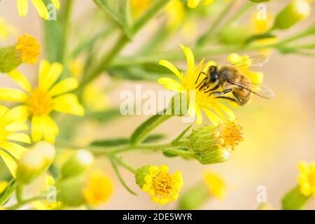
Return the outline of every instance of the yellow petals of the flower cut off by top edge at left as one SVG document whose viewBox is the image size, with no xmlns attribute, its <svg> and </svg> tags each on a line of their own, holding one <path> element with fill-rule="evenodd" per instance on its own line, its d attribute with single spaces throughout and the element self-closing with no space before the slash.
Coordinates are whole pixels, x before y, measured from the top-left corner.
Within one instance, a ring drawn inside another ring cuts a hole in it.
<svg viewBox="0 0 315 224">
<path fill-rule="evenodd" d="M 60 8 L 59 0 L 50 0 L 57 9 Z M 17 0 L 18 3 L 18 12 L 20 16 L 25 17 L 27 15 L 27 11 L 29 10 L 29 2 L 28 0 Z M 44 18 L 45 20 L 48 20 L 49 13 L 48 10 L 43 3 L 42 0 L 31 0 L 31 3 L 33 3 L 34 7 L 37 10 L 38 15 L 41 18 Z"/>
</svg>

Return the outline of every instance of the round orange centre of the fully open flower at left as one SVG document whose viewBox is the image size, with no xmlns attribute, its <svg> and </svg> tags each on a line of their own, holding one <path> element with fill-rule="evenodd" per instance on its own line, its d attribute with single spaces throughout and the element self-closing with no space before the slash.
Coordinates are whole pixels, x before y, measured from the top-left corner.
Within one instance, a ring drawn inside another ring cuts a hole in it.
<svg viewBox="0 0 315 224">
<path fill-rule="evenodd" d="M 31 92 L 29 100 L 27 101 L 27 106 L 29 107 L 29 112 L 33 115 L 47 115 L 52 111 L 52 98 L 48 92 L 36 88 Z"/>
</svg>

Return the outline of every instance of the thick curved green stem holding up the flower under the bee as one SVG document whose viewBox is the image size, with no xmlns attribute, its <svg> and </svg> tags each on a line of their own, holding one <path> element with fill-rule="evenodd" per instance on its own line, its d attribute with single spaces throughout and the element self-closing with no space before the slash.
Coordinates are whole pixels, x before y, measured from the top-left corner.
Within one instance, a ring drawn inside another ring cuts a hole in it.
<svg viewBox="0 0 315 224">
<path fill-rule="evenodd" d="M 137 127 L 137 129 L 132 133 L 132 137 L 130 138 L 130 144 L 137 145 L 141 143 L 142 141 L 144 141 L 144 139 L 146 139 L 148 134 L 155 129 L 155 127 L 157 127 L 158 125 L 160 125 L 169 118 L 172 118 L 172 115 L 157 114 L 149 118 L 148 120 L 146 120 L 146 122 L 142 123 L 142 125 Z"/>
</svg>

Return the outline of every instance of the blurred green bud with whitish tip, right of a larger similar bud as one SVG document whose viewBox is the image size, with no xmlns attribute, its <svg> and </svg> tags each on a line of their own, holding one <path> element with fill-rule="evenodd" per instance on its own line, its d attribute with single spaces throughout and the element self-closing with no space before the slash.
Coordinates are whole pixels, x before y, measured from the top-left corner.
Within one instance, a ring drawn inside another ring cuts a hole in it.
<svg viewBox="0 0 315 224">
<path fill-rule="evenodd" d="M 92 153 L 85 149 L 80 149 L 64 163 L 62 166 L 62 176 L 67 178 L 69 176 L 78 176 L 83 174 L 91 167 L 93 162 L 94 156 Z"/>
</svg>

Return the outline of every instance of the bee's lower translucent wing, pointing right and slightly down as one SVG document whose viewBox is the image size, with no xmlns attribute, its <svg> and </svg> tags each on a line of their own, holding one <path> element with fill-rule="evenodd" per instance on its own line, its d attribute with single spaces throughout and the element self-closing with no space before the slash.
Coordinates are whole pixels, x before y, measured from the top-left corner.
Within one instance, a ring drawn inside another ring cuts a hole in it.
<svg viewBox="0 0 315 224">
<path fill-rule="evenodd" d="M 243 87 L 246 90 L 253 92 L 259 97 L 265 99 L 273 99 L 275 97 L 274 92 L 267 87 L 267 85 L 263 84 L 255 84 L 249 82 L 233 82 L 232 85 L 237 85 L 239 87 Z"/>
</svg>

